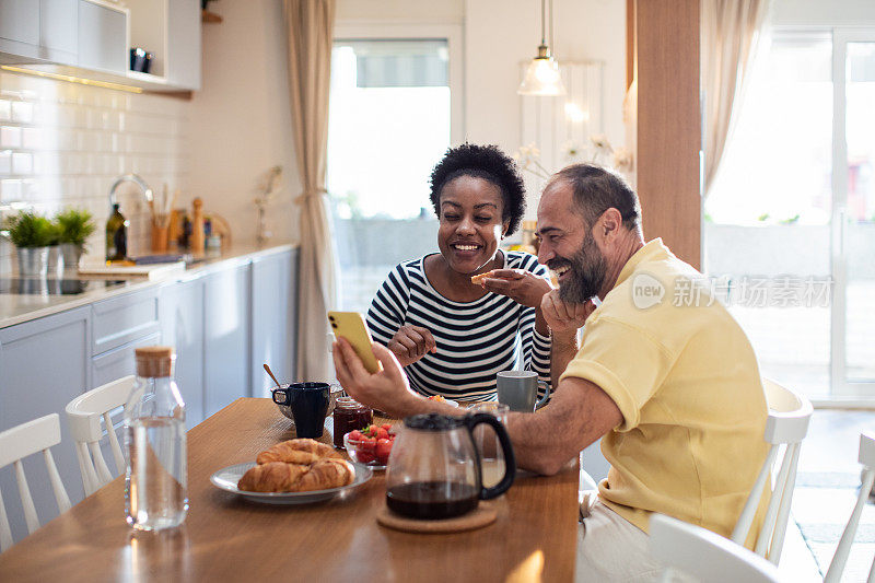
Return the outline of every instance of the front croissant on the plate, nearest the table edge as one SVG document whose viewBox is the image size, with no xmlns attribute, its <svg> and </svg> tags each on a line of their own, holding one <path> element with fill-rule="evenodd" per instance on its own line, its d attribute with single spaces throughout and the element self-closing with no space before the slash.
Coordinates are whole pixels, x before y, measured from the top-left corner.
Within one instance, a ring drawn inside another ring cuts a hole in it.
<svg viewBox="0 0 875 583">
<path fill-rule="evenodd" d="M 269 462 L 249 468 L 237 488 L 249 492 L 310 492 L 352 483 L 355 469 L 346 459 L 320 459 L 311 466 Z"/>
</svg>

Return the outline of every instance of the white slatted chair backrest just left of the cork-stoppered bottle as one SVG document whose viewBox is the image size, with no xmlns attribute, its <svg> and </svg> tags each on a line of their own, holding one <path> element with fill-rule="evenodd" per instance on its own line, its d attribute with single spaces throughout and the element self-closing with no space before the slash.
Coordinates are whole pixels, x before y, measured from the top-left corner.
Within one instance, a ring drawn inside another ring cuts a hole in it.
<svg viewBox="0 0 875 583">
<path fill-rule="evenodd" d="M 109 412 L 125 405 L 133 388 L 133 376 L 125 376 L 89 390 L 67 405 L 67 420 L 70 422 L 70 433 L 75 441 L 75 457 L 79 460 L 85 495 L 93 494 L 113 479 L 101 453 L 101 439 L 104 433 L 101 419 L 106 429 L 116 469 L 121 471 L 125 467 L 125 455 L 121 453 Z"/>
</svg>

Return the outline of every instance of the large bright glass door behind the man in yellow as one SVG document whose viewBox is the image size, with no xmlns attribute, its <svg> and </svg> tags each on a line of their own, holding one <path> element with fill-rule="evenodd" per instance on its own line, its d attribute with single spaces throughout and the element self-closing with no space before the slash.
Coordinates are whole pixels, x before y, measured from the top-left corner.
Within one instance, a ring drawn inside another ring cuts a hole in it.
<svg viewBox="0 0 875 583">
<path fill-rule="evenodd" d="M 875 31 L 774 33 L 704 206 L 762 374 L 815 401 L 875 397 L 873 98 Z"/>
</svg>

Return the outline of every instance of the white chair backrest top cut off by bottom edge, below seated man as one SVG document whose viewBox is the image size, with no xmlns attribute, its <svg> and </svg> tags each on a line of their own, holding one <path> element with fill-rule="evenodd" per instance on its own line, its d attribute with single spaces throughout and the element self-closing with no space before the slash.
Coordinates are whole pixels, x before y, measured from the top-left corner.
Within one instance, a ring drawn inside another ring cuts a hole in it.
<svg viewBox="0 0 875 583">
<path fill-rule="evenodd" d="M 709 583 L 782 581 L 775 565 L 700 526 L 653 514 L 649 530 L 651 555 L 666 567 L 663 581 L 672 581 L 675 570 Z"/>
</svg>

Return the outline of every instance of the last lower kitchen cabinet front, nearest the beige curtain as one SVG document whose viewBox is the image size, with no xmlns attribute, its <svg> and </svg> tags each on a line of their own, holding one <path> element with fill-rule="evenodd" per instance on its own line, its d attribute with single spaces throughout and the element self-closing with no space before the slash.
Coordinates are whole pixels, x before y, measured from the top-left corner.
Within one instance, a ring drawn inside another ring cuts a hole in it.
<svg viewBox="0 0 875 583">
<path fill-rule="evenodd" d="M 291 383 L 295 377 L 296 276 L 298 252 L 253 259 L 253 397 L 269 397 L 273 386 L 264 363 L 280 382 Z"/>
</svg>

